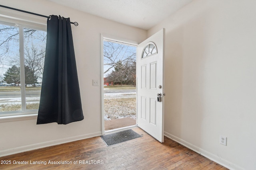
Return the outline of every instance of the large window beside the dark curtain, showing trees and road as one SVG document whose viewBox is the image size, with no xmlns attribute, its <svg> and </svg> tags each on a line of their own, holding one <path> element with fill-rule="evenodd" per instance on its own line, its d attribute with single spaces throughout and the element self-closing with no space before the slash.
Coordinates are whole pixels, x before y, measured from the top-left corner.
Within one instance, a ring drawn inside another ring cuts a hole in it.
<svg viewBox="0 0 256 170">
<path fill-rule="evenodd" d="M 0 22 L 0 116 L 36 113 L 46 31 Z"/>
</svg>

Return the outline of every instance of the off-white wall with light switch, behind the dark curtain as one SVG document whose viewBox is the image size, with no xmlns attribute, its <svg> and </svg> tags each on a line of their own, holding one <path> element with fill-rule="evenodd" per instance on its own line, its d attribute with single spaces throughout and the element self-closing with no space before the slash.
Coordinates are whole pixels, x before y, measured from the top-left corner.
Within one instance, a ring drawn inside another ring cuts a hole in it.
<svg viewBox="0 0 256 170">
<path fill-rule="evenodd" d="M 84 120 L 68 125 L 36 125 L 36 117 L 30 117 L 28 120 L 0 121 L 0 156 L 101 135 L 101 88 L 92 86 L 93 79 L 101 80 L 100 34 L 141 42 L 146 39 L 147 32 L 45 0 L 0 0 L 0 4 L 46 16 L 54 14 L 70 17 L 71 21 L 79 23 L 77 27 L 72 25 L 72 34 L 84 111 Z M 5 8 L 0 8 L 0 15 L 45 24 L 47 20 Z"/>
</svg>

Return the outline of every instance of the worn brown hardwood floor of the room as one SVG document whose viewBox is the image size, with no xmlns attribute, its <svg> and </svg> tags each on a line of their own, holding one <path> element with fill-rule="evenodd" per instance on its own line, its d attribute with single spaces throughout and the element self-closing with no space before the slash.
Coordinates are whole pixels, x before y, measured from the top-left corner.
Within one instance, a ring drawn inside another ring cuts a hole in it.
<svg viewBox="0 0 256 170">
<path fill-rule="evenodd" d="M 106 146 L 101 137 L 93 137 L 4 156 L 0 160 L 10 160 L 11 164 L 0 164 L 0 169 L 227 170 L 171 139 L 165 137 L 164 143 L 159 143 L 142 129 L 133 130 L 142 137 L 110 147 Z"/>
</svg>

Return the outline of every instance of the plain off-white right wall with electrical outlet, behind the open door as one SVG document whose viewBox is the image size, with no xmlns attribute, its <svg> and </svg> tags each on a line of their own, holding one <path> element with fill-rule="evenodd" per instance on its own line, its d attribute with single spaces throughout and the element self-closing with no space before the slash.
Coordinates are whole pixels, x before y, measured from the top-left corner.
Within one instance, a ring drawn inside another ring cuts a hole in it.
<svg viewBox="0 0 256 170">
<path fill-rule="evenodd" d="M 255 9 L 195 0 L 148 31 L 166 28 L 165 135 L 231 169 L 256 168 Z"/>
</svg>

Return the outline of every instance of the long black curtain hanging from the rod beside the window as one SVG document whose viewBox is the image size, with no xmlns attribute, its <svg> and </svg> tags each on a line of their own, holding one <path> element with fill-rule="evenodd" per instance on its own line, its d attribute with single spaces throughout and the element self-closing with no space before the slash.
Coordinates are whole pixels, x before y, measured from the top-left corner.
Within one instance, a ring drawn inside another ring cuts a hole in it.
<svg viewBox="0 0 256 170">
<path fill-rule="evenodd" d="M 70 19 L 51 16 L 37 124 L 83 119 Z"/>
</svg>

